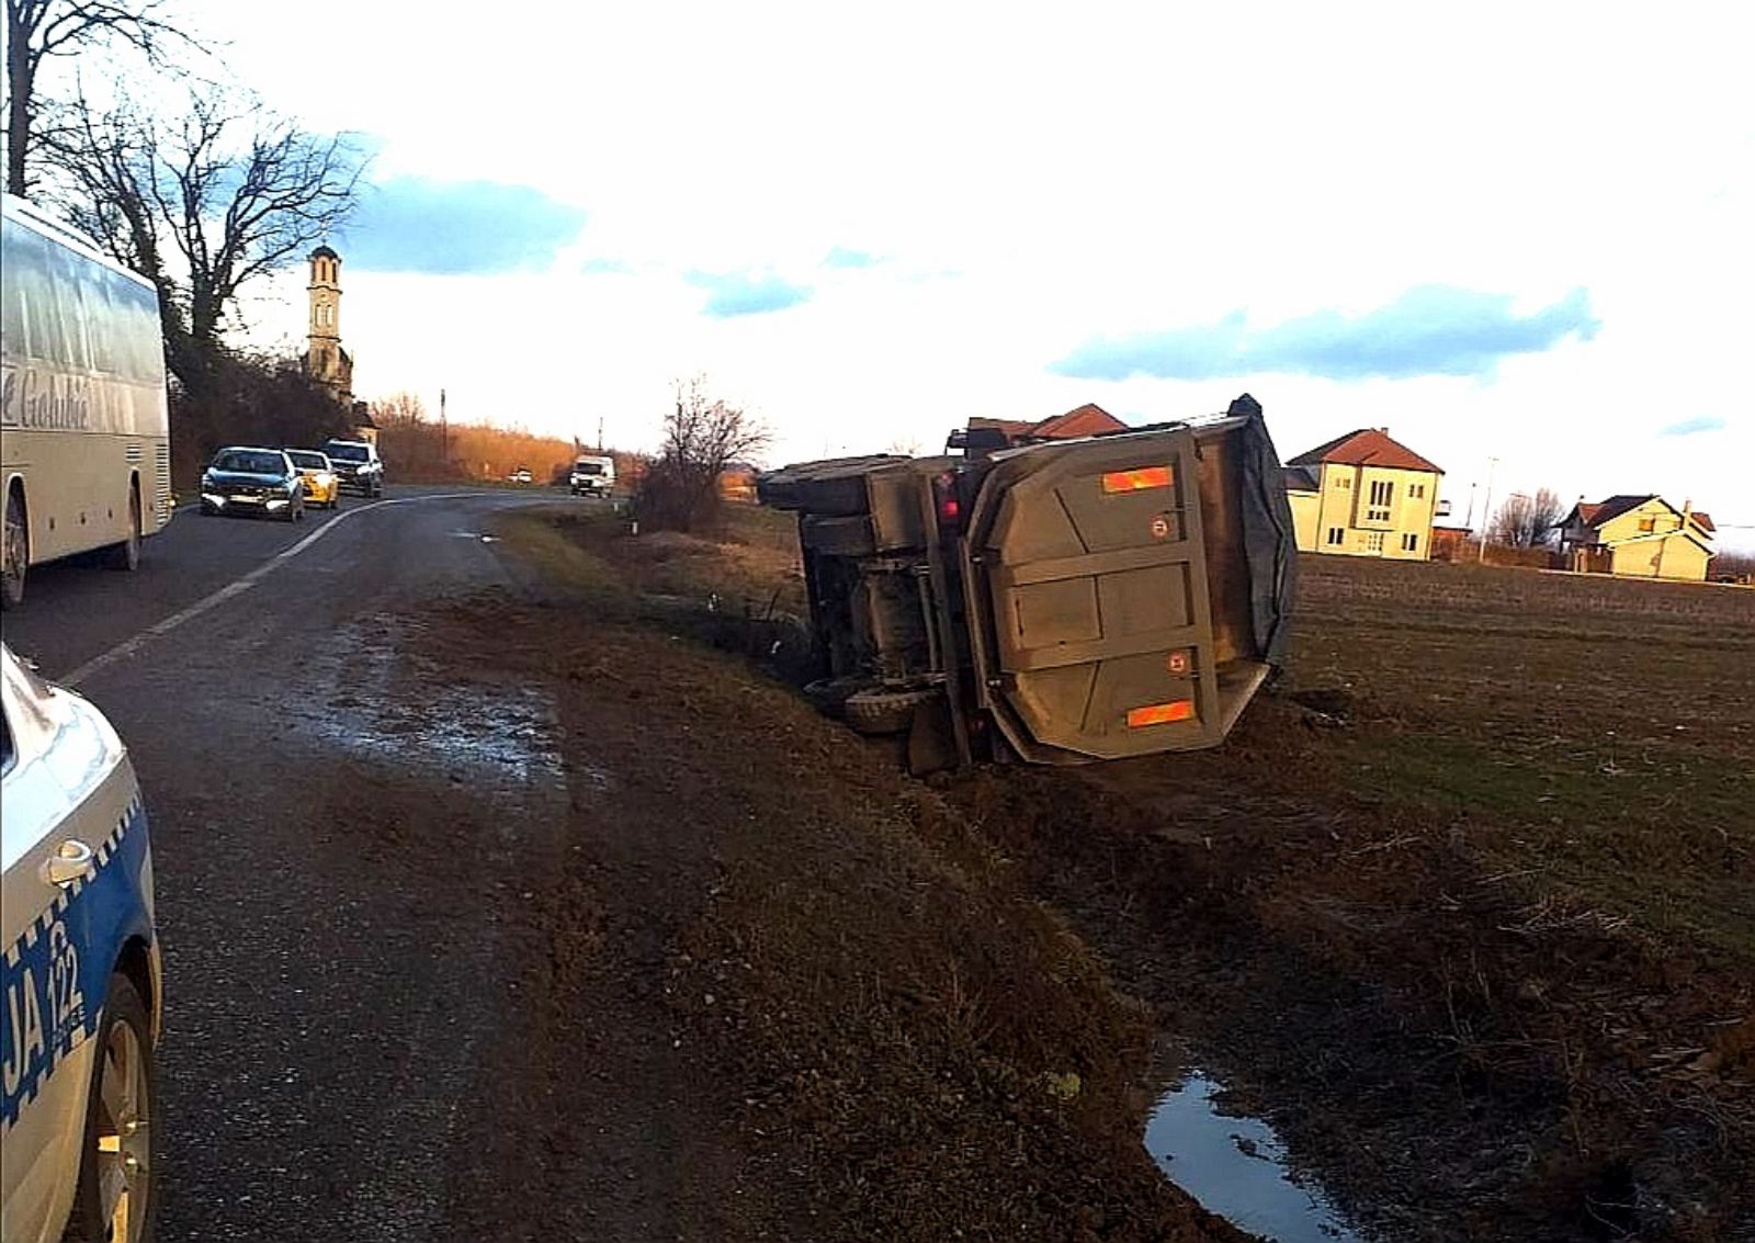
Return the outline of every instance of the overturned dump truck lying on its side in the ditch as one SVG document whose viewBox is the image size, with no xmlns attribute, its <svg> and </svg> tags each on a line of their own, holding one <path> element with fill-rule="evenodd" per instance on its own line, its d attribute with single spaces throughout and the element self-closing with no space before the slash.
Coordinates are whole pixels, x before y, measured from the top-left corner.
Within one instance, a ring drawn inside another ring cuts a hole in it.
<svg viewBox="0 0 1755 1243">
<path fill-rule="evenodd" d="M 1292 511 L 1262 407 L 960 455 L 806 462 L 813 692 L 916 771 L 1218 744 L 1279 664 Z"/>
</svg>

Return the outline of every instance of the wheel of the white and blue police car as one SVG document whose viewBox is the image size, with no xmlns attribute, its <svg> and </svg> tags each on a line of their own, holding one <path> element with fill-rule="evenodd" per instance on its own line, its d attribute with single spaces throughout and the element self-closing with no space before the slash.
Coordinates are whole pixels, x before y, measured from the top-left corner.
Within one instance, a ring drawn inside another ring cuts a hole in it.
<svg viewBox="0 0 1755 1243">
<path fill-rule="evenodd" d="M 109 980 L 98 1027 L 79 1190 L 61 1243 L 146 1243 L 153 1238 L 153 1029 L 128 976 Z"/>
</svg>

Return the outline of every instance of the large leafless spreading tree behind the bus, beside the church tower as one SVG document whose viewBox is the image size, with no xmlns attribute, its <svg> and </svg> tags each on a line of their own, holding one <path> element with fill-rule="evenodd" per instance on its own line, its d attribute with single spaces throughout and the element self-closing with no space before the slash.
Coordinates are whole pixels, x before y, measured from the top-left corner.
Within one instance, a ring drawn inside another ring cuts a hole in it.
<svg viewBox="0 0 1755 1243">
<path fill-rule="evenodd" d="M 355 205 L 360 160 L 251 100 L 195 93 L 181 118 L 82 97 L 46 140 L 56 202 L 160 293 L 172 369 L 198 386 L 239 290 L 295 262 Z"/>
</svg>

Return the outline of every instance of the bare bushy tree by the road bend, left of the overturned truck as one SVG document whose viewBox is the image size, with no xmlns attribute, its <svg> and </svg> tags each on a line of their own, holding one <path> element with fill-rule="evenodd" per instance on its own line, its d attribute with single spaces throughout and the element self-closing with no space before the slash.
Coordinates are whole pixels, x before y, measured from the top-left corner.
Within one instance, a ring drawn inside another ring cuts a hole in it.
<svg viewBox="0 0 1755 1243">
<path fill-rule="evenodd" d="M 706 376 L 676 383 L 665 439 L 641 479 L 635 504 L 653 527 L 700 530 L 718 516 L 725 467 L 760 453 L 767 427 L 748 411 L 709 400 Z"/>
</svg>

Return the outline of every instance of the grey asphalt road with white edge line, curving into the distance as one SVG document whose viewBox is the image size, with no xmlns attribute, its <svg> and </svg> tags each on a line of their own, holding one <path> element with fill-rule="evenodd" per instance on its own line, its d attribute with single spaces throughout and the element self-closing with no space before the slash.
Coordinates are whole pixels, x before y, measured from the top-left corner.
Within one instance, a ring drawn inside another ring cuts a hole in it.
<svg viewBox="0 0 1755 1243">
<path fill-rule="evenodd" d="M 456 688 L 404 641 L 435 595 L 516 586 L 483 525 L 556 499 L 184 514 L 137 574 L 49 567 L 7 614 L 118 727 L 151 815 L 158 1238 L 449 1238 L 530 950 L 505 902 L 556 848 L 565 785 L 542 702 Z"/>
</svg>

